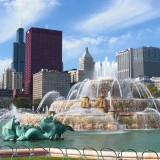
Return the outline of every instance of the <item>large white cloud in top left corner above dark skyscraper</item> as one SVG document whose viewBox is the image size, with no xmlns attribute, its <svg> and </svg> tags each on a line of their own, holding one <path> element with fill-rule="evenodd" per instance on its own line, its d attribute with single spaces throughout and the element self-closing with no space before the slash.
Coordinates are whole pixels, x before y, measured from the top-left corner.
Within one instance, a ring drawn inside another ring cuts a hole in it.
<svg viewBox="0 0 160 160">
<path fill-rule="evenodd" d="M 10 39 L 19 27 L 25 27 L 49 13 L 58 0 L 0 0 L 0 42 Z"/>
</svg>

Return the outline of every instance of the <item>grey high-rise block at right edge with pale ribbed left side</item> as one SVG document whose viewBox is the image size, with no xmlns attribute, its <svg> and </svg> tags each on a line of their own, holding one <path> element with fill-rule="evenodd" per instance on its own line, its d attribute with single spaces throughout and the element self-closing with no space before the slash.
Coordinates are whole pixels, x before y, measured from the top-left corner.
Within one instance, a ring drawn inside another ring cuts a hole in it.
<svg viewBox="0 0 160 160">
<path fill-rule="evenodd" d="M 160 76 L 160 48 L 129 48 L 116 54 L 118 79 Z"/>
</svg>

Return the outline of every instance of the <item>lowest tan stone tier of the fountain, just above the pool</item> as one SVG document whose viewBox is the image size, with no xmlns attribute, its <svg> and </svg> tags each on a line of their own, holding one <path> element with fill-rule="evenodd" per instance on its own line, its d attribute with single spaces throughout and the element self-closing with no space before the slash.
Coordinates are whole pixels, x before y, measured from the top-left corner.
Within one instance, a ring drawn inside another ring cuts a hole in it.
<svg viewBox="0 0 160 160">
<path fill-rule="evenodd" d="M 89 109 L 90 110 L 90 109 Z M 86 111 L 89 111 L 86 109 Z M 155 121 L 157 113 L 135 113 L 109 111 L 101 115 L 58 115 L 56 119 L 75 130 L 124 130 L 124 129 L 150 129 L 159 128 Z M 39 120 L 47 114 L 19 114 L 17 119 L 20 123 L 39 126 Z"/>
</svg>

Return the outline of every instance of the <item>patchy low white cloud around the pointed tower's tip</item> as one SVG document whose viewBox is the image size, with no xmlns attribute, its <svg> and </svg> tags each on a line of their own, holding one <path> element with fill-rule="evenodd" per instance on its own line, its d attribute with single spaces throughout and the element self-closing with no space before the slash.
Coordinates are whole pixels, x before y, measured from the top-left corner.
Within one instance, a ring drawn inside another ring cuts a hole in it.
<svg viewBox="0 0 160 160">
<path fill-rule="evenodd" d="M 113 37 L 64 37 L 63 38 L 63 61 L 67 62 L 71 59 L 78 59 L 88 47 L 92 56 L 106 57 L 110 54 L 110 50 L 116 48 L 116 46 L 124 46 L 128 40 L 131 39 L 131 33 L 122 34 L 120 36 Z M 116 53 L 116 52 L 115 52 Z M 99 57 L 100 58 L 100 57 Z M 78 61 L 77 61 L 78 63 Z"/>
</svg>

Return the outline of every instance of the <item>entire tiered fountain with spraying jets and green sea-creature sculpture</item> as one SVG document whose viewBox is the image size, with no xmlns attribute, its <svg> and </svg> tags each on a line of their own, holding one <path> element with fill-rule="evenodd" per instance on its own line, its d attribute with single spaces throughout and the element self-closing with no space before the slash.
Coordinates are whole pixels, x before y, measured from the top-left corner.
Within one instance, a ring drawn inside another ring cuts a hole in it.
<svg viewBox="0 0 160 160">
<path fill-rule="evenodd" d="M 12 115 L 8 124 L 3 126 L 3 137 L 6 140 L 31 140 L 38 136 L 36 139 L 57 139 L 60 134 L 58 138 L 62 139 L 61 135 L 67 130 L 79 131 L 77 135 L 83 135 L 97 131 L 115 134 L 127 130 L 159 129 L 159 100 L 139 81 L 119 81 L 116 78 L 116 67 L 116 63 L 108 62 L 107 58 L 102 64 L 96 63 L 93 80 L 85 79 L 75 84 L 66 99 L 56 91 L 48 92 L 39 104 L 36 114 L 20 113 L 13 107 L 14 111 L 0 117 L 4 120 Z M 49 96 L 53 102 L 45 108 L 46 113 L 42 114 L 40 110 Z M 63 132 L 57 132 L 57 123 L 58 127 L 63 128 Z M 19 136 L 15 136 L 15 126 L 18 126 Z M 25 129 L 27 132 L 24 132 Z M 11 133 L 11 137 L 6 137 L 6 132 Z"/>
</svg>

